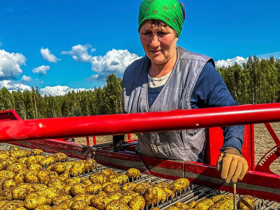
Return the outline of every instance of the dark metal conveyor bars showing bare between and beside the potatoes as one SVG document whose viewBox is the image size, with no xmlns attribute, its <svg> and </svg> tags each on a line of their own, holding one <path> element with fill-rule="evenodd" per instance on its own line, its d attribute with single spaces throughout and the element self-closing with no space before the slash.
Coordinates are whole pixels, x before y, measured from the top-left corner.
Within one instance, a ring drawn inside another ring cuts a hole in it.
<svg viewBox="0 0 280 210">
<path fill-rule="evenodd" d="M 14 146 L 13 144 L 10 143 L 0 143 L 0 150 L 9 150 L 11 146 Z M 27 149 L 31 150 L 31 148 L 26 148 L 22 146 L 18 146 L 20 149 Z M 47 157 L 52 155 L 53 153 L 47 153 L 44 152 L 42 155 Z M 68 161 L 77 161 L 80 159 L 69 157 Z M 43 169 L 46 168 L 46 166 L 43 166 Z M 123 169 L 118 169 L 115 167 L 103 165 L 103 164 L 97 164 L 97 168 L 92 170 L 92 171 L 85 171 L 83 174 L 79 174 L 79 177 L 88 177 L 92 173 L 100 172 L 103 169 L 112 169 L 114 173 L 120 173 L 120 174 L 125 174 L 126 170 Z M 171 183 L 173 180 L 171 179 L 166 179 L 166 178 L 161 178 L 157 176 L 152 176 L 148 174 L 141 174 L 140 178 L 137 180 L 130 180 L 135 183 L 141 183 L 141 182 L 152 182 L 154 184 L 159 183 L 159 182 L 169 182 Z M 122 184 L 122 183 L 120 183 Z M 156 204 L 152 204 L 152 206 L 148 207 L 146 206 L 144 210 L 148 210 L 151 207 L 157 207 L 159 209 L 165 210 L 169 206 L 173 206 L 176 202 L 183 202 L 188 204 L 190 201 L 195 200 L 197 202 L 205 199 L 205 198 L 211 198 L 214 195 L 220 195 L 220 194 L 225 194 L 225 195 L 232 195 L 232 193 L 217 190 L 214 188 L 208 188 L 202 185 L 195 185 L 195 184 L 190 184 L 190 186 L 183 190 L 182 192 L 175 193 L 174 198 L 166 198 L 165 202 L 159 202 Z M 241 195 L 240 195 L 241 196 Z M 256 206 L 255 210 L 280 210 L 280 203 L 279 202 L 274 202 L 274 201 L 269 201 L 269 200 L 264 200 L 260 198 L 255 198 L 256 201 Z"/>
</svg>

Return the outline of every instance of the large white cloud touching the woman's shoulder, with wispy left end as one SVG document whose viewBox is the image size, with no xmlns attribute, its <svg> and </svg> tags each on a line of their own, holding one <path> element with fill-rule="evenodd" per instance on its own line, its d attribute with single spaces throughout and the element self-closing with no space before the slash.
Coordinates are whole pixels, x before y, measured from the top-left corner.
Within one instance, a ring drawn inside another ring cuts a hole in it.
<svg viewBox="0 0 280 210">
<path fill-rule="evenodd" d="M 90 62 L 92 71 L 99 74 L 99 79 L 106 78 L 111 73 L 122 76 L 129 64 L 141 58 L 128 50 L 115 49 L 108 51 L 104 56 L 92 56 L 88 54 L 88 48 L 92 48 L 91 45 L 76 45 L 72 50 L 61 53 L 71 55 L 76 62 Z"/>
</svg>

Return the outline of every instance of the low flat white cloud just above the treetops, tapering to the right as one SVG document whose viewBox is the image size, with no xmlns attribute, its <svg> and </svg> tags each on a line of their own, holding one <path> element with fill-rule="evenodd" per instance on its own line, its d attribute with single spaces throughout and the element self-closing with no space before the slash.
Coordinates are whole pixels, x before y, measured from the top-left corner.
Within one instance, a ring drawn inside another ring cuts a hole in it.
<svg viewBox="0 0 280 210">
<path fill-rule="evenodd" d="M 79 91 L 87 91 L 87 90 L 94 90 L 94 89 L 85 89 L 85 88 L 69 88 L 68 86 L 61 86 L 61 85 L 57 85 L 57 86 L 46 86 L 45 88 L 41 88 L 40 92 L 42 95 L 65 95 L 67 94 L 69 91 L 72 92 L 74 90 L 74 92 L 79 92 Z"/>
</svg>

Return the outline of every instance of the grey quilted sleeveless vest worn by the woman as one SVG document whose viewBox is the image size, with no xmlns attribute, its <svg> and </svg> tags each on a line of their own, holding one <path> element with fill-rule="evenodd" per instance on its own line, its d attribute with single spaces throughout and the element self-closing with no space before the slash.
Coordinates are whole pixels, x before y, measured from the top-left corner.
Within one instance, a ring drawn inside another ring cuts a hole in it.
<svg viewBox="0 0 280 210">
<path fill-rule="evenodd" d="M 148 106 L 148 65 L 145 56 L 130 64 L 123 75 L 123 106 L 125 113 L 191 109 L 190 97 L 197 78 L 210 57 L 176 47 L 175 66 L 152 106 Z M 149 120 L 149 119 L 147 119 Z M 205 142 L 205 129 L 188 129 L 136 134 L 135 150 L 149 157 L 198 160 Z"/>
</svg>

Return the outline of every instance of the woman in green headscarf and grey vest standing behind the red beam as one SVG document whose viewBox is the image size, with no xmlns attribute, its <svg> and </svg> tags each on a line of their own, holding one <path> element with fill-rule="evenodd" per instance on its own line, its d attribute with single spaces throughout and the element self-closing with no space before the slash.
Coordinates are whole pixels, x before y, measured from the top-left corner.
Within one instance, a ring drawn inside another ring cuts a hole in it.
<svg viewBox="0 0 280 210">
<path fill-rule="evenodd" d="M 178 0 L 143 0 L 139 36 L 146 56 L 123 76 L 125 113 L 237 105 L 212 58 L 176 46 L 185 19 Z M 244 126 L 225 127 L 217 169 L 227 183 L 245 175 Z M 137 134 L 135 150 L 150 157 L 204 161 L 205 129 Z"/>
</svg>

